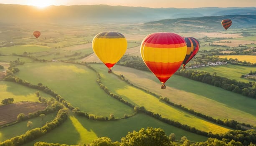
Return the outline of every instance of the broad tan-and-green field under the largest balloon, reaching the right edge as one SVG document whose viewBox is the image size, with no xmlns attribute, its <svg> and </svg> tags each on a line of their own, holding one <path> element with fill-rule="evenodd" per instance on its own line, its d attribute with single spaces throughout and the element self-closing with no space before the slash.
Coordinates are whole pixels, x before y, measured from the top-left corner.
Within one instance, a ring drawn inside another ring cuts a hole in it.
<svg viewBox="0 0 256 146">
<path fill-rule="evenodd" d="M 234 65 L 233 68 L 237 67 Z M 167 97 L 173 103 L 182 104 L 213 118 L 228 118 L 241 123 L 256 124 L 255 99 L 175 75 L 167 81 L 167 88 L 161 90 L 160 82 L 151 72 L 119 65 L 115 65 L 113 70 L 124 75 L 134 85 Z"/>
</svg>

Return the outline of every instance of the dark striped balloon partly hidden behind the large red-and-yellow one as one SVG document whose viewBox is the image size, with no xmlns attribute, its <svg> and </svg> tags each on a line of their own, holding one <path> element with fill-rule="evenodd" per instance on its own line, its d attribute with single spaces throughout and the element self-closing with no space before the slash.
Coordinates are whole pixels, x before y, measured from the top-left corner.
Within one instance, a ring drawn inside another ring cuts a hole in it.
<svg viewBox="0 0 256 146">
<path fill-rule="evenodd" d="M 187 45 L 187 54 L 185 59 L 183 60 L 183 69 L 185 69 L 185 65 L 198 53 L 199 50 L 199 42 L 197 39 L 193 37 L 183 37 L 186 45 Z"/>
</svg>

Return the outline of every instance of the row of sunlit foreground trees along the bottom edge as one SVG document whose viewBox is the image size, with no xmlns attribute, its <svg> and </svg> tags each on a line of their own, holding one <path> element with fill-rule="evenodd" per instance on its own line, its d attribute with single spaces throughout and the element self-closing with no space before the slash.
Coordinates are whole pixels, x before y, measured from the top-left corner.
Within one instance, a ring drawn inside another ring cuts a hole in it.
<svg viewBox="0 0 256 146">
<path fill-rule="evenodd" d="M 251 131 L 255 136 L 256 131 Z M 230 133 L 231 134 L 231 133 Z M 235 137 L 239 137 L 238 133 L 235 134 Z M 125 137 L 122 137 L 120 142 L 112 140 L 108 137 L 99 137 L 93 140 L 91 143 L 84 143 L 79 145 L 72 146 L 178 146 L 180 144 L 174 143 L 175 134 L 171 133 L 169 136 L 165 134 L 165 131 L 161 128 L 141 128 L 139 131 L 128 132 Z M 208 138 L 205 142 L 190 143 L 190 141 L 182 136 L 180 141 L 181 146 L 256 146 L 251 142 L 241 142 L 236 140 L 228 140 L 223 138 L 218 140 L 216 138 Z M 36 142 L 34 146 L 69 146 L 66 144 L 59 143 L 46 143 L 46 142 Z"/>
</svg>

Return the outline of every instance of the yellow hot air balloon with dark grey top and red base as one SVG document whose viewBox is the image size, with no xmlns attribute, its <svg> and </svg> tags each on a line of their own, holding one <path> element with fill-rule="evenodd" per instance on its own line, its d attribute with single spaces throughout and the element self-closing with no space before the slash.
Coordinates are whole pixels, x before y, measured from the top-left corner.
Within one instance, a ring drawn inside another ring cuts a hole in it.
<svg viewBox="0 0 256 146">
<path fill-rule="evenodd" d="M 102 32 L 92 40 L 92 48 L 97 57 L 109 68 L 122 58 L 127 49 L 127 40 L 124 35 L 117 32 Z"/>
</svg>

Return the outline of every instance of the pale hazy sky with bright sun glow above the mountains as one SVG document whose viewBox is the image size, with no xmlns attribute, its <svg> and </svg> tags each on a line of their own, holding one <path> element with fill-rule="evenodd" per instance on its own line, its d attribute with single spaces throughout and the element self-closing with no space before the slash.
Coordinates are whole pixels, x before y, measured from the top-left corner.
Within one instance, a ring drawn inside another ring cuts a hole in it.
<svg viewBox="0 0 256 146">
<path fill-rule="evenodd" d="M 21 5 L 123 5 L 150 8 L 256 7 L 256 0 L 0 0 Z"/>
</svg>

